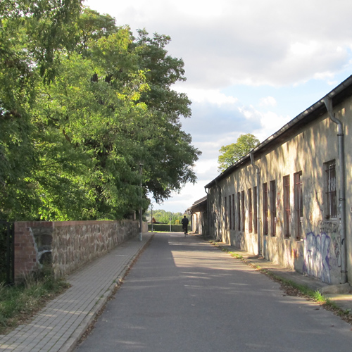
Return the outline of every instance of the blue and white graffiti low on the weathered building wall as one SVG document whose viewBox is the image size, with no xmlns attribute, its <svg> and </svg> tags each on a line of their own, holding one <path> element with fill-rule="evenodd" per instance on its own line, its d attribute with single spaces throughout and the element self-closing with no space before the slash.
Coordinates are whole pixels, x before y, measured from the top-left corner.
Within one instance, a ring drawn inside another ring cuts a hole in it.
<svg viewBox="0 0 352 352">
<path fill-rule="evenodd" d="M 318 277 L 322 282 L 331 283 L 329 264 L 331 238 L 325 232 L 318 235 L 309 232 L 304 241 L 303 273 Z"/>
</svg>

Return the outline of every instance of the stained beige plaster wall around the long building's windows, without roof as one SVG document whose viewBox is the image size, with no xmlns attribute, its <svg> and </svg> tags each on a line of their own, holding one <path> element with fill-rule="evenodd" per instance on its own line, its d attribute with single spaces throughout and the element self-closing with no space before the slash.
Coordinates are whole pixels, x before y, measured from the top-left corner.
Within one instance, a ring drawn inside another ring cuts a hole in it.
<svg viewBox="0 0 352 352">
<path fill-rule="evenodd" d="M 346 208 L 347 208 L 347 270 L 348 281 L 352 282 L 352 99 L 346 99 L 334 107 L 334 113 L 344 124 L 346 149 Z M 322 115 L 314 122 L 287 134 L 279 144 L 272 144 L 271 150 L 265 150 L 255 164 L 260 168 L 260 184 L 256 182 L 256 169 L 247 161 L 231 175 L 218 180 L 209 189 L 210 226 L 215 238 L 221 238 L 229 244 L 238 246 L 250 253 L 258 253 L 258 233 L 249 230 L 249 197 L 248 190 L 257 186 L 260 194 L 259 231 L 261 254 L 268 260 L 294 268 L 298 272 L 317 277 L 329 284 L 340 282 L 341 271 L 341 225 L 337 218 L 327 218 L 327 197 L 325 165 L 335 160 L 337 187 L 339 187 L 339 158 L 337 143 L 337 125 L 328 115 Z M 297 239 L 298 221 L 295 213 L 294 173 L 302 172 L 303 189 L 303 238 Z M 291 237 L 284 236 L 283 177 L 289 175 Z M 276 191 L 272 194 L 270 182 L 275 181 Z M 263 234 L 263 184 L 268 184 L 268 235 Z M 238 204 L 237 194 L 244 191 L 244 209 L 242 214 L 241 200 Z M 339 189 L 337 189 L 339 199 Z M 270 203 L 274 197 L 274 205 Z M 234 197 L 234 206 L 230 201 Z M 338 201 L 339 202 L 339 201 Z M 253 206 L 253 196 L 252 196 Z M 276 209 L 276 219 L 271 220 L 272 206 Z M 339 213 L 339 208 L 338 208 Z M 245 217 L 244 227 L 238 223 Z M 253 222 L 256 221 L 253 217 Z M 230 223 L 232 228 L 230 228 Z M 275 226 L 275 235 L 272 226 Z"/>
</svg>

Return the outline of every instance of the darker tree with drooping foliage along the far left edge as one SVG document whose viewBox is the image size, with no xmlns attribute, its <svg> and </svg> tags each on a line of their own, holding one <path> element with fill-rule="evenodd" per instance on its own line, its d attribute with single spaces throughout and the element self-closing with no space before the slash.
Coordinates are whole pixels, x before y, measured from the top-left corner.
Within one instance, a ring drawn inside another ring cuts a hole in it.
<svg viewBox="0 0 352 352">
<path fill-rule="evenodd" d="M 37 83 L 54 77 L 56 51 L 73 43 L 67 29 L 80 8 L 80 0 L 0 2 L 1 218 L 32 218 L 39 206 L 31 109 Z"/>
</svg>

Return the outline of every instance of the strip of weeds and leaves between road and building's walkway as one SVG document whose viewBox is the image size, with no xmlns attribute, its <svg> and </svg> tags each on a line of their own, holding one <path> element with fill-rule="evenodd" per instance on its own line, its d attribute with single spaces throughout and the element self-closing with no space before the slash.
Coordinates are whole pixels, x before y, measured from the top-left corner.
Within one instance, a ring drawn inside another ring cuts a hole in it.
<svg viewBox="0 0 352 352">
<path fill-rule="evenodd" d="M 214 246 L 218 246 L 218 243 L 216 241 L 209 241 L 210 244 L 213 244 Z M 320 306 L 324 307 L 327 310 L 331 310 L 334 314 L 339 315 L 343 320 L 346 322 L 352 324 L 352 312 L 349 310 L 343 310 L 337 306 L 334 301 L 330 300 L 329 298 L 323 296 L 320 294 L 319 291 L 314 291 L 312 289 L 309 289 L 308 287 L 302 285 L 302 284 L 297 284 L 296 282 L 289 280 L 289 279 L 284 279 L 283 277 L 279 277 L 278 275 L 275 275 L 273 272 L 271 272 L 268 269 L 265 268 L 260 268 L 259 265 L 255 265 L 253 263 L 250 263 L 247 261 L 241 254 L 230 251 L 229 249 L 218 246 L 221 251 L 225 251 L 226 253 L 229 253 L 230 256 L 242 260 L 244 263 L 247 265 L 250 265 L 252 268 L 255 268 L 256 270 L 262 272 L 264 275 L 267 275 L 270 277 L 272 280 L 275 282 L 278 282 L 281 284 L 282 290 L 287 294 L 288 296 L 301 296 L 308 298 L 315 303 L 318 303 Z"/>
</svg>

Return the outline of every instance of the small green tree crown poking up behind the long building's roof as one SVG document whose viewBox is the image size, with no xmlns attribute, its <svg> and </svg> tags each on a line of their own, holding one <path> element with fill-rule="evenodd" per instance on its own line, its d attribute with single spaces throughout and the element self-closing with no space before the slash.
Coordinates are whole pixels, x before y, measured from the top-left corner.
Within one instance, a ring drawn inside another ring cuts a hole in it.
<svg viewBox="0 0 352 352">
<path fill-rule="evenodd" d="M 218 171 L 225 171 L 229 166 L 239 161 L 240 158 L 248 154 L 253 148 L 258 146 L 259 139 L 253 134 L 241 134 L 236 143 L 222 146 L 219 150 Z"/>
</svg>

